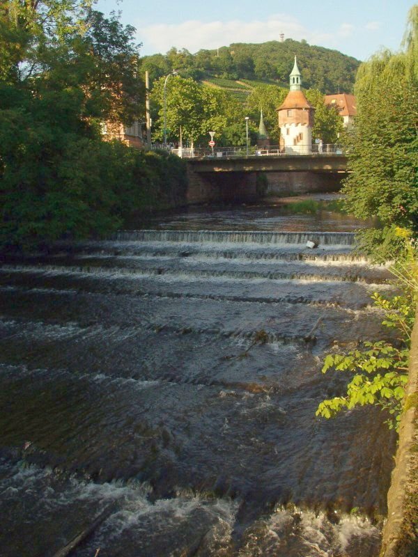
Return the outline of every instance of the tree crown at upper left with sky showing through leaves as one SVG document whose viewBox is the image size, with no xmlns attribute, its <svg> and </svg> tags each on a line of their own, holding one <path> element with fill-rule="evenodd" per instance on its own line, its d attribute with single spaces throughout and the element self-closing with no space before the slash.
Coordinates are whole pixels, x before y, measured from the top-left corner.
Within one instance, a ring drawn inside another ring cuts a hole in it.
<svg viewBox="0 0 418 557">
<path fill-rule="evenodd" d="M 134 28 L 84 0 L 7 0 L 0 10 L 3 81 L 33 95 L 68 88 L 84 117 L 132 123 L 143 110 Z M 142 106 L 141 106 L 142 104 Z"/>
</svg>

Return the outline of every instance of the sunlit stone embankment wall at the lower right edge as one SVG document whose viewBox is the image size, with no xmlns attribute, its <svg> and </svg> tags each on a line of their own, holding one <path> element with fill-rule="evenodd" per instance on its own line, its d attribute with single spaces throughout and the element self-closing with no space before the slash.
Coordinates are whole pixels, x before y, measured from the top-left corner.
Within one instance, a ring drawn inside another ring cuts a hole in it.
<svg viewBox="0 0 418 557">
<path fill-rule="evenodd" d="M 418 311 L 381 557 L 418 556 Z"/>
</svg>

